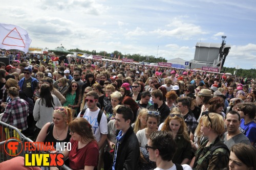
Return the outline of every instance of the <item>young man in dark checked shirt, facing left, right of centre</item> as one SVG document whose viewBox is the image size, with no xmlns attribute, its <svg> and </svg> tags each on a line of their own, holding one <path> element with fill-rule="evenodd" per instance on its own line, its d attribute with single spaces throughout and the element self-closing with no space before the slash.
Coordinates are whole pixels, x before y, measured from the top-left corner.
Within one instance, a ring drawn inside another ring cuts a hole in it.
<svg viewBox="0 0 256 170">
<path fill-rule="evenodd" d="M 186 123 L 188 128 L 188 134 L 190 134 L 191 131 L 195 131 L 195 129 L 197 128 L 197 119 L 195 118 L 194 114 L 189 110 L 189 100 L 186 98 L 179 99 L 177 107 L 181 110 L 184 122 Z"/>
</svg>

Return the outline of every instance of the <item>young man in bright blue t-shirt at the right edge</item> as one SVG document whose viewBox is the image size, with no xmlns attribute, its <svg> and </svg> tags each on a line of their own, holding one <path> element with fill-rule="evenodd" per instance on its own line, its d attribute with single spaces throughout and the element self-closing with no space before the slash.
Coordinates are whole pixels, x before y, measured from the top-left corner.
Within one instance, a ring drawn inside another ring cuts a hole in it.
<svg viewBox="0 0 256 170">
<path fill-rule="evenodd" d="M 251 145 L 256 145 L 256 124 L 254 117 L 256 106 L 253 103 L 242 103 L 238 106 L 238 112 L 241 116 L 241 124 L 239 130 L 249 138 Z"/>
</svg>

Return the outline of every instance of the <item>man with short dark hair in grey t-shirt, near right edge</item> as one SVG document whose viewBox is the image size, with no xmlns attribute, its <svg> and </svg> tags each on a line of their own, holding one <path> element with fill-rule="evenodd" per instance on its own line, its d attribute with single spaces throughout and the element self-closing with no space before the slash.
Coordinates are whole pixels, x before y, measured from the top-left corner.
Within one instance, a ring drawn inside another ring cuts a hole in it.
<svg viewBox="0 0 256 170">
<path fill-rule="evenodd" d="M 250 140 L 239 130 L 240 114 L 237 111 L 229 111 L 225 115 L 225 125 L 227 132 L 224 134 L 224 144 L 227 145 L 228 149 L 232 145 L 237 143 L 250 144 Z"/>
</svg>

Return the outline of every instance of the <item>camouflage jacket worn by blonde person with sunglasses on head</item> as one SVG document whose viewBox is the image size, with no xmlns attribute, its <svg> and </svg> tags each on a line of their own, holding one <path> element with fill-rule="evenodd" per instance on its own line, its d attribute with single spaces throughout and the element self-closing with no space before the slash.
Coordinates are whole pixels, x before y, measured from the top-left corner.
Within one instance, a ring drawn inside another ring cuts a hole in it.
<svg viewBox="0 0 256 170">
<path fill-rule="evenodd" d="M 197 170 L 218 170 L 218 169 L 226 169 L 228 167 L 229 162 L 229 150 L 224 148 L 219 148 L 212 153 L 210 156 L 210 148 L 214 147 L 214 145 L 220 141 L 220 137 L 216 138 L 215 141 L 210 143 L 208 147 L 206 144 L 208 143 L 208 139 L 198 148 L 196 152 L 196 160 L 193 166 L 193 169 Z"/>
</svg>

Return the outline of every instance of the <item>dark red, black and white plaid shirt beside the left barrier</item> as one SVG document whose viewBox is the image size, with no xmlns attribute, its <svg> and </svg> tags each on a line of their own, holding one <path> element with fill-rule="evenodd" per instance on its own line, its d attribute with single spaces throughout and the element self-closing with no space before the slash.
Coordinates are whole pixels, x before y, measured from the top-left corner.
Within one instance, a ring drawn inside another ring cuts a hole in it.
<svg viewBox="0 0 256 170">
<path fill-rule="evenodd" d="M 26 130 L 28 128 L 27 116 L 29 115 L 28 103 L 14 98 L 5 108 L 2 122 L 5 122 L 11 126 L 14 126 L 20 130 Z"/>
</svg>

